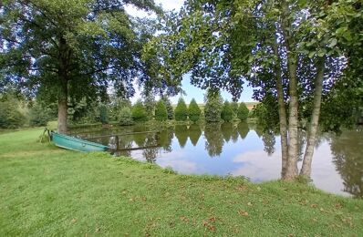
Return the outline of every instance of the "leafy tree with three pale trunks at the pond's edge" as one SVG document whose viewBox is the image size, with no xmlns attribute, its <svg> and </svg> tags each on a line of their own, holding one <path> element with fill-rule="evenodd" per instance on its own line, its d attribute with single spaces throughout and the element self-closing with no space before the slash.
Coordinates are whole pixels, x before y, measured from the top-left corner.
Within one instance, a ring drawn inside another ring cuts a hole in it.
<svg viewBox="0 0 363 237">
<path fill-rule="evenodd" d="M 272 94 L 279 116 L 282 178 L 294 180 L 311 173 L 323 86 L 328 94 L 337 78 L 344 79 L 346 58 L 359 64 L 361 54 L 352 49 L 363 42 L 358 34 L 362 17 L 358 0 L 196 0 L 187 2 L 179 15 L 169 15 L 165 34 L 149 44 L 178 80 L 190 73 L 193 85 L 223 88 L 233 98 L 239 98 L 248 80 L 256 100 Z M 361 78 L 359 70 L 348 69 Z M 304 121 L 308 138 L 299 172 L 299 126 Z"/>
</svg>

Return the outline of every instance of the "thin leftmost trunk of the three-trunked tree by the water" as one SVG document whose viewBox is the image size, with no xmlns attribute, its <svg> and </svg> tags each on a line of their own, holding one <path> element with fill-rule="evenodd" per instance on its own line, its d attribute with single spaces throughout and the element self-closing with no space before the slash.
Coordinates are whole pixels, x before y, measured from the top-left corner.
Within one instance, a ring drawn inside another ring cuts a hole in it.
<svg viewBox="0 0 363 237">
<path fill-rule="evenodd" d="M 287 165 L 287 121 L 286 121 L 286 108 L 284 101 L 284 89 L 283 89 L 283 78 L 281 73 L 281 61 L 278 54 L 277 39 L 274 44 L 274 53 L 277 58 L 275 64 L 276 73 L 276 89 L 277 89 L 277 102 L 278 102 L 278 115 L 280 121 L 280 135 L 281 135 L 281 155 L 282 155 L 282 166 L 281 166 L 281 177 L 285 177 L 285 170 Z"/>
</svg>

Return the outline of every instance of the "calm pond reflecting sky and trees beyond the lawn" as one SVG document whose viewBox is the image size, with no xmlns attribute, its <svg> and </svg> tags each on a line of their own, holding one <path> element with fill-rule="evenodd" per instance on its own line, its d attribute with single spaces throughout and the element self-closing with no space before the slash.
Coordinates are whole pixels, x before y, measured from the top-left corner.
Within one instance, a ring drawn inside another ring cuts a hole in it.
<svg viewBox="0 0 363 237">
<path fill-rule="evenodd" d="M 119 149 L 115 155 L 155 162 L 182 174 L 244 176 L 253 182 L 280 179 L 280 137 L 254 124 L 74 129 L 71 135 Z M 302 134 L 301 152 L 305 143 Z M 363 129 L 319 135 L 312 179 L 321 190 L 362 198 Z"/>
</svg>

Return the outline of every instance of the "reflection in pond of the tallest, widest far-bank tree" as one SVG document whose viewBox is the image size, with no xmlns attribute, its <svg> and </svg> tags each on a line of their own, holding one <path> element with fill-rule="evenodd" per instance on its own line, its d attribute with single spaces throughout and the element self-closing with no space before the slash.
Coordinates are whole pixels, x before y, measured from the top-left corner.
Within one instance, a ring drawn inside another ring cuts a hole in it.
<svg viewBox="0 0 363 237">
<path fill-rule="evenodd" d="M 220 124 L 208 124 L 204 129 L 205 149 L 211 157 L 221 155 L 223 149 L 223 134 Z"/>
</svg>

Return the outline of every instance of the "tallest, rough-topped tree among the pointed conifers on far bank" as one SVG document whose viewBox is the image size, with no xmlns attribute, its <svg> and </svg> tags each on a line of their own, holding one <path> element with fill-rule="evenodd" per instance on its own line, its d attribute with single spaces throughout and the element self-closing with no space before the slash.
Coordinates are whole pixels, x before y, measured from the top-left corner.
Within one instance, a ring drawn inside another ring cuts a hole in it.
<svg viewBox="0 0 363 237">
<path fill-rule="evenodd" d="M 204 118 L 206 122 L 220 122 L 223 109 L 223 98 L 221 93 L 212 90 L 207 91 L 205 97 Z"/>
</svg>

